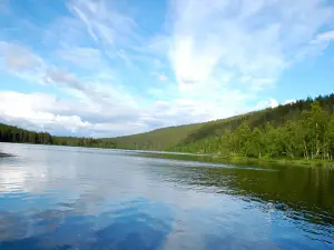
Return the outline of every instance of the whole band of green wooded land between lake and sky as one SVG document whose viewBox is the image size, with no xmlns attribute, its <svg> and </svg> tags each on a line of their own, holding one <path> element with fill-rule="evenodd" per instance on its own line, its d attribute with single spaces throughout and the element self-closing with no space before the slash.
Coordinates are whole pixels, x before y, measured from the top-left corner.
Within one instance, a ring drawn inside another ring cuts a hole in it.
<svg viewBox="0 0 334 250">
<path fill-rule="evenodd" d="M 234 161 L 333 164 L 334 94 L 228 119 L 108 139 L 51 137 L 0 124 L 0 141 L 209 153 Z"/>
</svg>

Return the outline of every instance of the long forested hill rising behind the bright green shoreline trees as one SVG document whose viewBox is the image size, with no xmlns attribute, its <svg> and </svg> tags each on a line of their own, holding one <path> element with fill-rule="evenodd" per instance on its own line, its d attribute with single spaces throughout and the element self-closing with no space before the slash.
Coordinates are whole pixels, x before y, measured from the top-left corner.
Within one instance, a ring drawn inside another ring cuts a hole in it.
<svg viewBox="0 0 334 250">
<path fill-rule="evenodd" d="M 307 98 L 294 103 L 254 111 L 242 116 L 219 119 L 209 122 L 195 123 L 188 126 L 170 127 L 154 130 L 146 133 L 118 137 L 112 139 L 118 148 L 141 149 L 141 150 L 181 150 L 190 143 L 203 141 L 204 139 L 218 137 L 226 130 L 236 130 L 242 123 L 246 123 L 250 130 L 258 127 L 264 129 L 271 123 L 274 128 L 284 126 L 287 121 L 296 121 L 302 118 L 302 113 L 311 110 L 312 103 L 317 101 L 322 109 L 328 113 L 334 110 L 334 94 Z M 189 150 L 186 150 L 189 151 Z"/>
</svg>

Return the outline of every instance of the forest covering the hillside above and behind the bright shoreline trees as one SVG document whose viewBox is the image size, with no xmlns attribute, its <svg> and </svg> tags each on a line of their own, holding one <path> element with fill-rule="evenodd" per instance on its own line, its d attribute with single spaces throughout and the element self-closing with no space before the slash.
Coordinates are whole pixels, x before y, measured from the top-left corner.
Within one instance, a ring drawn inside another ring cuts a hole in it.
<svg viewBox="0 0 334 250">
<path fill-rule="evenodd" d="M 307 132 L 306 124 L 302 123 L 302 120 L 306 119 L 314 102 L 320 106 L 323 114 L 333 116 L 334 94 L 330 94 L 320 96 L 314 99 L 297 100 L 293 103 L 227 119 L 163 128 L 147 133 L 114 138 L 112 140 L 117 142 L 119 148 L 128 149 L 226 153 L 227 150 L 225 148 L 217 148 L 222 146 L 222 140 L 225 140 L 222 138 L 225 138 L 225 136 L 228 137 L 229 133 L 236 136 L 235 132 L 239 131 L 243 127 L 246 127 L 246 130 L 248 129 L 249 131 L 257 128 L 253 133 L 257 130 L 268 131 L 271 128 L 281 133 L 283 132 L 281 128 L 292 126 L 289 124 L 291 122 L 293 124 L 297 122 L 303 128 L 302 130 Z M 243 127 L 238 129 L 242 124 Z M 217 141 L 220 142 L 217 143 Z M 235 152 L 236 150 L 232 151 Z M 264 157 L 265 153 L 262 152 L 262 156 Z"/>
</svg>

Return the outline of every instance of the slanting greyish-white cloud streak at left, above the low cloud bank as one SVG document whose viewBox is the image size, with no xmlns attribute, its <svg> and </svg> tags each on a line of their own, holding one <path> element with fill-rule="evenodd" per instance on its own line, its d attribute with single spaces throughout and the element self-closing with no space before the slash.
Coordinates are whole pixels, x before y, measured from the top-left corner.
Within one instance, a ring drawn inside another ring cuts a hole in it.
<svg viewBox="0 0 334 250">
<path fill-rule="evenodd" d="M 4 52 L 1 53 L 1 51 Z M 20 54 L 17 54 L 17 51 Z M 112 82 L 104 83 L 104 81 L 110 80 L 110 76 L 92 74 L 96 81 L 84 81 L 66 68 L 57 68 L 50 63 L 47 64 L 40 57 L 27 48 L 7 42 L 0 43 L 0 57 L 1 54 L 4 54 L 4 60 L 12 61 L 10 71 L 22 79 L 43 84 L 55 84 L 58 88 L 65 87 L 68 89 L 67 91 L 75 93 L 75 96 L 82 97 L 84 94 L 86 98 L 98 102 L 110 104 L 109 100 L 114 99 L 119 102 L 134 103 L 132 98 L 127 94 L 122 86 Z M 108 71 L 105 73 L 108 73 Z"/>
</svg>

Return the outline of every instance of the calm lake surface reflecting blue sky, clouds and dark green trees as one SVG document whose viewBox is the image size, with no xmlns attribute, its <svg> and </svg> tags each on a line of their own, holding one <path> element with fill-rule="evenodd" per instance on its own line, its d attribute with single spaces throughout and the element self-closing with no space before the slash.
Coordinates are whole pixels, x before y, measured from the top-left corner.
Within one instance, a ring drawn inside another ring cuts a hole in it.
<svg viewBox="0 0 334 250">
<path fill-rule="evenodd" d="M 0 249 L 334 249 L 334 171 L 0 143 Z"/>
</svg>

